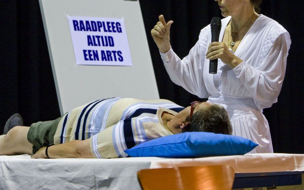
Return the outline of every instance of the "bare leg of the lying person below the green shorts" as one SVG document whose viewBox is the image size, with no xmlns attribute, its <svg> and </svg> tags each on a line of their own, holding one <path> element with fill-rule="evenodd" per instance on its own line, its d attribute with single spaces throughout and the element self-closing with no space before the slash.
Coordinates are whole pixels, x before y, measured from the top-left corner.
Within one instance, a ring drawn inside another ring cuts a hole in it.
<svg viewBox="0 0 304 190">
<path fill-rule="evenodd" d="M 0 136 L 0 155 L 32 154 L 33 145 L 27 140 L 29 127 L 15 126 Z"/>
</svg>

